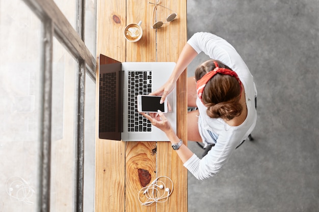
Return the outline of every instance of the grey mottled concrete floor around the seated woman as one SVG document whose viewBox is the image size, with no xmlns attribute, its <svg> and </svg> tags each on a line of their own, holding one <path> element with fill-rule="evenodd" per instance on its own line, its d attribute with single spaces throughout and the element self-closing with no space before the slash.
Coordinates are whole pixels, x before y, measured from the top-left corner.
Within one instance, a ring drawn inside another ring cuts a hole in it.
<svg viewBox="0 0 319 212">
<path fill-rule="evenodd" d="M 255 140 L 215 177 L 189 173 L 189 212 L 319 211 L 318 11 L 318 0 L 188 0 L 188 37 L 204 31 L 228 40 L 258 90 Z M 206 59 L 200 54 L 189 76 Z"/>
</svg>

